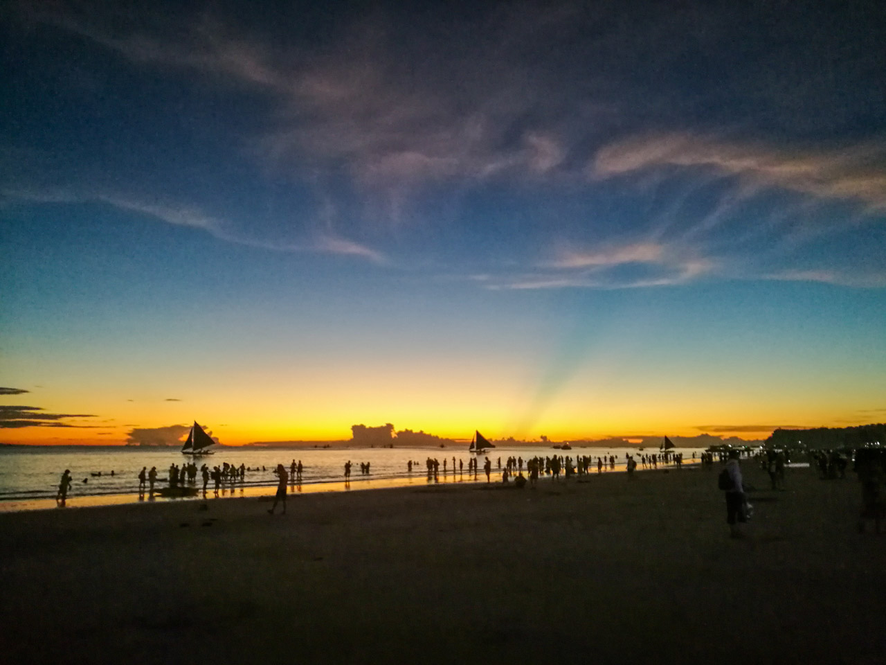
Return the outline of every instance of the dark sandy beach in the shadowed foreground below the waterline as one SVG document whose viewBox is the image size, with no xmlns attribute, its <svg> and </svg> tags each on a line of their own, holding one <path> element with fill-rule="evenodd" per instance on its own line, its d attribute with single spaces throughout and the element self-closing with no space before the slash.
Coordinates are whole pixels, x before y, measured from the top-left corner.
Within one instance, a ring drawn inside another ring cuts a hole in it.
<svg viewBox="0 0 886 665">
<path fill-rule="evenodd" d="M 0 661 L 886 662 L 854 474 L 749 466 L 0 514 Z"/>
</svg>

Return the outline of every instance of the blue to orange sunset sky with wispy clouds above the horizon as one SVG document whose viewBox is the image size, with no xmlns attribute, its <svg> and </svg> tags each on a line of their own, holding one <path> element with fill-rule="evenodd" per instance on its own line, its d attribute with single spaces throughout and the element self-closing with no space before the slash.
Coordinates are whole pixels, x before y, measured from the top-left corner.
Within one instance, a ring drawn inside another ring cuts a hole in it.
<svg viewBox="0 0 886 665">
<path fill-rule="evenodd" d="M 495 5 L 4 3 L 0 442 L 886 420 L 886 4 Z"/>
</svg>

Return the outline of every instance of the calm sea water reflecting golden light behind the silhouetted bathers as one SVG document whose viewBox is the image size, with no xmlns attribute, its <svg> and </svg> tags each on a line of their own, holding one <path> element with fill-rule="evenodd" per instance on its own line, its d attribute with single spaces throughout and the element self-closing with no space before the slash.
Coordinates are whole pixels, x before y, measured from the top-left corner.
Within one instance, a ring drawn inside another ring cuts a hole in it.
<svg viewBox="0 0 886 665">
<path fill-rule="evenodd" d="M 696 449 L 677 449 L 684 460 L 691 462 Z M 488 453 L 493 471 L 498 470 L 498 460 L 505 464 L 508 457 L 522 457 L 524 460 L 535 456 L 553 457 L 556 453 L 575 459 L 579 455 L 589 455 L 595 459 L 600 455 L 615 455 L 618 471 L 625 468 L 626 452 L 641 455 L 637 449 L 606 450 L 602 448 L 575 448 L 573 450 L 553 450 L 548 447 L 496 448 Z M 646 453 L 655 452 L 646 450 Z M 463 448 L 219 448 L 213 455 L 197 458 L 197 465 L 206 464 L 210 468 L 231 465 L 246 465 L 255 471 L 247 471 L 245 481 L 237 487 L 260 487 L 276 485 L 273 471 L 277 464 L 287 470 L 291 461 L 301 460 L 304 466 L 302 482 L 305 484 L 331 483 L 343 480 L 345 463 L 353 463 L 352 484 L 362 480 L 394 480 L 409 477 L 420 478 L 425 473 L 427 458 L 439 459 L 439 473 L 443 473 L 443 460 L 447 460 L 447 473 L 452 476 L 453 458 L 455 467 L 462 461 L 467 475 L 470 453 Z M 486 455 L 479 455 L 480 474 Z M 407 471 L 409 460 L 417 462 L 410 474 Z M 69 497 L 95 497 L 103 495 L 133 494 L 138 490 L 138 472 L 143 466 L 149 470 L 157 467 L 158 487 L 167 484 L 170 465 L 183 465 L 190 458 L 175 449 L 146 449 L 124 446 L 33 446 L 0 447 L 0 502 L 27 499 L 53 498 L 58 489 L 58 481 L 65 469 L 71 470 L 74 479 Z M 369 476 L 362 475 L 360 464 L 369 462 Z M 525 463 L 524 463 L 525 468 Z M 111 472 L 113 471 L 113 475 Z M 101 473 L 101 475 L 93 475 Z M 84 482 L 85 481 L 85 482 Z M 198 476 L 198 484 L 202 484 Z M 210 481 L 212 487 L 212 481 Z"/>
</svg>

